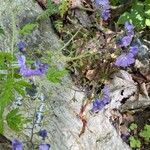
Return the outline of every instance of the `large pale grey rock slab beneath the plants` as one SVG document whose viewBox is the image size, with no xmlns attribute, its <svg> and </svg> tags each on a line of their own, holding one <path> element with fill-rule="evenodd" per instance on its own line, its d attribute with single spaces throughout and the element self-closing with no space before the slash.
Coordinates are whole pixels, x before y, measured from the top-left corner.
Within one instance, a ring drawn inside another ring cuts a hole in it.
<svg viewBox="0 0 150 150">
<path fill-rule="evenodd" d="M 12 37 L 12 13 L 15 16 L 17 28 L 22 27 L 26 23 L 34 22 L 37 16 L 42 13 L 42 9 L 33 0 L 0 0 L 0 22 L 5 31 L 5 35 L 0 37 L 0 50 L 10 51 L 12 40 L 18 42 L 24 40 L 27 43 L 28 50 L 51 50 L 52 52 L 61 52 L 61 42 L 53 32 L 50 20 L 39 22 L 39 26 L 30 35 Z M 14 49 L 15 49 L 14 44 Z M 16 50 L 17 51 L 17 50 Z M 53 56 L 54 57 L 54 56 Z M 55 63 L 60 62 L 53 58 Z M 63 64 L 63 63 L 62 63 Z M 37 136 L 37 132 L 44 128 L 48 132 L 46 143 L 51 145 L 53 150 L 128 150 L 130 149 L 122 142 L 120 136 L 109 122 L 109 117 L 104 113 L 103 109 L 95 116 L 87 111 L 87 127 L 85 133 L 79 137 L 82 129 L 82 122 L 77 117 L 80 112 L 82 101 L 85 94 L 82 92 L 75 93 L 73 83 L 69 77 L 63 79 L 61 84 L 52 84 L 45 77 L 34 77 L 34 83 L 37 85 L 38 94 L 43 93 L 45 101 L 38 98 L 35 100 L 26 97 L 23 100 L 20 109 L 27 118 L 36 118 L 36 109 L 45 104 L 45 112 L 41 126 L 33 126 L 27 124 L 26 129 L 22 131 L 20 136 L 10 129 L 5 131 L 5 135 L 9 139 L 17 138 L 20 141 L 28 142 L 25 149 L 37 149 L 42 143 L 42 139 Z M 76 102 L 72 101 L 74 97 Z M 38 96 L 37 96 L 38 97 Z M 90 110 L 91 106 L 88 106 Z M 33 120 L 34 122 L 34 120 Z M 30 128 L 28 128 L 30 127 Z M 33 137 L 32 130 L 33 128 Z M 28 147 L 35 144 L 35 147 Z"/>
</svg>

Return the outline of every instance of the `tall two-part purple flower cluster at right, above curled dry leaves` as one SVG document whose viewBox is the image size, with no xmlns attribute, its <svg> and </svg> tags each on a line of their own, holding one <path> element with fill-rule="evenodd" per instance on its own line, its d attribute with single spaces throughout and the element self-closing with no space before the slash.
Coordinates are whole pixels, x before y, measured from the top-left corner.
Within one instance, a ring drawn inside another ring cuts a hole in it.
<svg viewBox="0 0 150 150">
<path fill-rule="evenodd" d="M 131 45 L 132 40 L 134 38 L 134 26 L 130 24 L 129 22 L 125 22 L 125 30 L 126 35 L 119 40 L 119 47 L 121 48 L 127 48 Z M 129 65 L 133 64 L 135 62 L 135 56 L 138 53 L 138 45 L 132 44 L 128 52 L 122 53 L 119 57 L 117 57 L 115 65 L 119 67 L 128 67 Z"/>
</svg>

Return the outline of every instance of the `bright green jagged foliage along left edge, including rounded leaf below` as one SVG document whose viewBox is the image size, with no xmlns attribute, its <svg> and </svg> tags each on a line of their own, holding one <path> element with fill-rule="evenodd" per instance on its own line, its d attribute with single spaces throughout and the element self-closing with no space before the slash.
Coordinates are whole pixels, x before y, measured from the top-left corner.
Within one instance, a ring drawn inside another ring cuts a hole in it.
<svg viewBox="0 0 150 150">
<path fill-rule="evenodd" d="M 21 76 L 16 76 L 17 70 L 14 65 L 15 57 L 10 52 L 3 52 L 0 51 L 0 133 L 3 133 L 4 131 L 4 111 L 5 108 L 12 103 L 14 100 L 15 93 L 18 93 L 22 96 L 25 95 L 25 87 L 30 86 L 28 82 L 23 80 Z M 13 116 L 14 120 L 12 119 L 12 114 L 16 113 L 16 116 Z M 8 126 L 18 130 L 19 126 L 21 124 L 22 119 L 21 118 L 15 118 L 20 117 L 20 115 L 17 115 L 18 110 L 12 111 L 7 115 L 7 123 Z M 9 119 L 9 117 L 11 118 Z M 18 120 L 17 120 L 18 119 Z M 14 121 L 13 124 L 18 124 L 19 126 L 15 125 L 15 127 L 12 127 L 12 120 Z"/>
</svg>

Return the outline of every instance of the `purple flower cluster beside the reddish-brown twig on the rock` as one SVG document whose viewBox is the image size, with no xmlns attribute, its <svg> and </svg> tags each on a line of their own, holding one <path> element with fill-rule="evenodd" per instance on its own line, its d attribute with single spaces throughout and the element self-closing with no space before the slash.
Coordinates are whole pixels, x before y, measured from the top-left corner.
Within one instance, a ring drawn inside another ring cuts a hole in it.
<svg viewBox="0 0 150 150">
<path fill-rule="evenodd" d="M 102 89 L 102 97 L 93 102 L 92 112 L 98 112 L 110 102 L 110 91 L 107 85 Z"/>
</svg>

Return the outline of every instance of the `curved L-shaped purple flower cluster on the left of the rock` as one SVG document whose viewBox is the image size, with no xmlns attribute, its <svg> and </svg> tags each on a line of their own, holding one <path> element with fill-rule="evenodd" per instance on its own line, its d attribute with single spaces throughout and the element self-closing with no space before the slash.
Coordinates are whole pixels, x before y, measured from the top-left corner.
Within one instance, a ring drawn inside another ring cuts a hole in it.
<svg viewBox="0 0 150 150">
<path fill-rule="evenodd" d="M 24 77 L 30 77 L 34 75 L 43 75 L 48 70 L 47 64 L 39 64 L 36 69 L 30 69 L 26 66 L 26 58 L 24 55 L 17 56 L 18 64 L 20 67 L 20 74 Z"/>
</svg>

